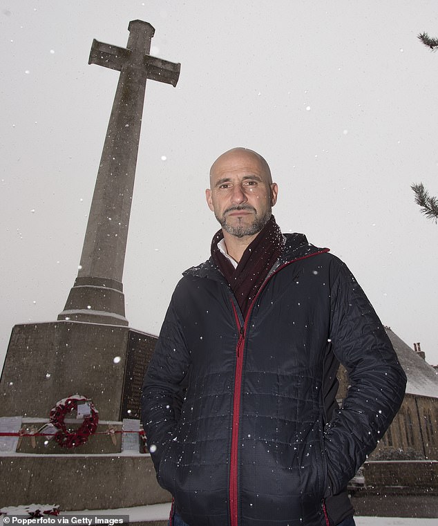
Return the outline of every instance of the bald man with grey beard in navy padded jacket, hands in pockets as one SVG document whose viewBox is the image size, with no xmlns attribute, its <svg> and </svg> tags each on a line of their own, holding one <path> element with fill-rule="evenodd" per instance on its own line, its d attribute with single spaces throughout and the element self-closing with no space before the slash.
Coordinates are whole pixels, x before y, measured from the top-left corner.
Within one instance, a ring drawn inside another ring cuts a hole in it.
<svg viewBox="0 0 438 526">
<path fill-rule="evenodd" d="M 211 167 L 221 229 L 183 274 L 144 380 L 142 422 L 169 524 L 354 525 L 347 482 L 403 400 L 406 376 L 347 267 L 281 234 L 258 153 Z M 336 404 L 341 362 L 350 389 Z"/>
</svg>

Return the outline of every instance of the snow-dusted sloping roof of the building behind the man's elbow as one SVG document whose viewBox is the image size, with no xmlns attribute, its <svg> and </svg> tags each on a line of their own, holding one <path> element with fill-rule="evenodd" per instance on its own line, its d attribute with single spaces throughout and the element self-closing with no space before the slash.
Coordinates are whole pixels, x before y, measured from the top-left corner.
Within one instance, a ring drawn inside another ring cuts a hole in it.
<svg viewBox="0 0 438 526">
<path fill-rule="evenodd" d="M 438 398 L 438 371 L 405 344 L 389 327 L 385 327 L 385 330 L 408 377 L 406 393 Z"/>
</svg>

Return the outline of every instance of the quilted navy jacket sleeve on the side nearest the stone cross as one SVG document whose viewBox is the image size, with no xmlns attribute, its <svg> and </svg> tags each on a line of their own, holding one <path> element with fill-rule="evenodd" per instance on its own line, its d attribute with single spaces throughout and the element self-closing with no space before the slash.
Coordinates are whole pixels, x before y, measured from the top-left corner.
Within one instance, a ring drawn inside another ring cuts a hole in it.
<svg viewBox="0 0 438 526">
<path fill-rule="evenodd" d="M 189 360 L 172 300 L 146 370 L 142 390 L 142 424 L 157 472 L 162 453 L 174 438 L 173 432 L 178 425 Z"/>
</svg>

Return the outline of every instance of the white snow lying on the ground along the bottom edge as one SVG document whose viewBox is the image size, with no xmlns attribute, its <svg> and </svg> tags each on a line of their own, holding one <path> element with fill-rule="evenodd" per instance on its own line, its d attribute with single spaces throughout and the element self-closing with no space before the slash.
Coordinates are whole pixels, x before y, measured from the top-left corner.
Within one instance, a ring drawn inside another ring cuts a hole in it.
<svg viewBox="0 0 438 526">
<path fill-rule="evenodd" d="M 170 503 L 138 506 L 131 508 L 117 508 L 104 510 L 61 511 L 61 516 L 79 515 L 128 515 L 131 523 L 152 520 L 166 520 L 171 509 Z M 8 510 L 9 511 L 9 510 Z M 15 510 L 14 510 L 15 511 Z M 15 511 L 17 513 L 17 511 Z M 9 511 L 9 514 L 15 514 Z M 3 517 L 0 517 L 0 526 L 3 526 Z M 354 517 L 356 526 L 437 526 L 437 518 L 399 518 L 399 517 Z"/>
</svg>

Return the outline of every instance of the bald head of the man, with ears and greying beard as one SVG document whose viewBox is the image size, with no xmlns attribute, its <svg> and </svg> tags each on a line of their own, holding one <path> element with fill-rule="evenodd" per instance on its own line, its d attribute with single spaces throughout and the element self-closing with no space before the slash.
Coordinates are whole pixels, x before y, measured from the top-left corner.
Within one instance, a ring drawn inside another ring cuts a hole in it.
<svg viewBox="0 0 438 526">
<path fill-rule="evenodd" d="M 251 151 L 224 153 L 211 167 L 207 204 L 225 232 L 241 238 L 260 232 L 272 214 L 277 185 Z"/>
</svg>

